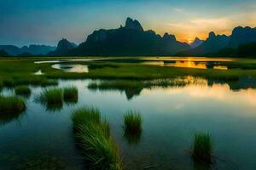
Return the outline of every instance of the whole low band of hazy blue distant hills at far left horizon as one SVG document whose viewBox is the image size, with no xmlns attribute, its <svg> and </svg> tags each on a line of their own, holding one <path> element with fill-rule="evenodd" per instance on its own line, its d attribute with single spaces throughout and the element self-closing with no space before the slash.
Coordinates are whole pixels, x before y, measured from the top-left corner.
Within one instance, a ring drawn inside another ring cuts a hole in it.
<svg viewBox="0 0 256 170">
<path fill-rule="evenodd" d="M 33 54 L 33 55 L 44 55 L 48 54 L 50 51 L 55 50 L 55 47 L 46 45 L 30 45 L 18 48 L 14 45 L 0 45 L 0 49 L 6 51 L 10 55 L 20 55 L 20 54 Z"/>
</svg>

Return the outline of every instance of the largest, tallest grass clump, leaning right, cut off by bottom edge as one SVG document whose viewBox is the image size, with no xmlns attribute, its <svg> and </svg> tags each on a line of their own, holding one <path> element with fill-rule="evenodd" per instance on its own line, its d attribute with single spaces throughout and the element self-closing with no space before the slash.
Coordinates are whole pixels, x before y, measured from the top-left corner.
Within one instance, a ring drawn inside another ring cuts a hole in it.
<svg viewBox="0 0 256 170">
<path fill-rule="evenodd" d="M 110 136 L 108 122 L 101 122 L 100 111 L 85 107 L 74 111 L 72 120 L 90 169 L 121 170 L 118 147 Z"/>
</svg>

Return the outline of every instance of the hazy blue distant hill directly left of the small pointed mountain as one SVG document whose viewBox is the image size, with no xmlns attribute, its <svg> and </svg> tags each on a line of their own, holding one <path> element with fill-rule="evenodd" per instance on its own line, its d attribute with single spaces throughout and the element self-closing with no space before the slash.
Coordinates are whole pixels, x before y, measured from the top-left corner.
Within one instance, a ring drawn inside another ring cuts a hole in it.
<svg viewBox="0 0 256 170">
<path fill-rule="evenodd" d="M 23 46 L 20 48 L 21 53 L 28 53 L 28 54 L 48 54 L 51 51 L 54 51 L 55 47 L 46 46 L 46 45 L 30 45 L 29 47 Z"/>
</svg>

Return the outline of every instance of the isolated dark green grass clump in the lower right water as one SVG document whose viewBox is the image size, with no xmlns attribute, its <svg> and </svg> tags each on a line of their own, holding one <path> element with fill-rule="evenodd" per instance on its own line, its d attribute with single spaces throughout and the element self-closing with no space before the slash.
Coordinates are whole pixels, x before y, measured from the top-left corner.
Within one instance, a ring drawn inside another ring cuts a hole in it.
<svg viewBox="0 0 256 170">
<path fill-rule="evenodd" d="M 196 133 L 192 157 L 199 161 L 212 163 L 212 139 L 209 133 Z"/>
</svg>

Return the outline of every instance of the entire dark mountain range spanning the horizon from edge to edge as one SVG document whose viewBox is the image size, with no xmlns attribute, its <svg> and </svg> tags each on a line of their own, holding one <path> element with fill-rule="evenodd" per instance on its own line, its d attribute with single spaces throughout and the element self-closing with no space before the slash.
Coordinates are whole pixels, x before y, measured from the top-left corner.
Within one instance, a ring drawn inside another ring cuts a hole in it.
<svg viewBox="0 0 256 170">
<path fill-rule="evenodd" d="M 255 42 L 255 43 L 254 43 Z M 190 44 L 178 42 L 172 34 L 163 36 L 152 30 L 145 31 L 138 20 L 127 18 L 125 26 L 117 29 L 93 31 L 77 46 L 67 39 L 61 39 L 57 47 L 30 45 L 18 48 L 0 45 L 10 55 L 50 55 L 50 56 L 256 56 L 256 28 L 234 28 L 230 36 L 209 33 L 207 40 L 198 37 Z M 2 52 L 3 53 L 3 52 Z"/>
</svg>

